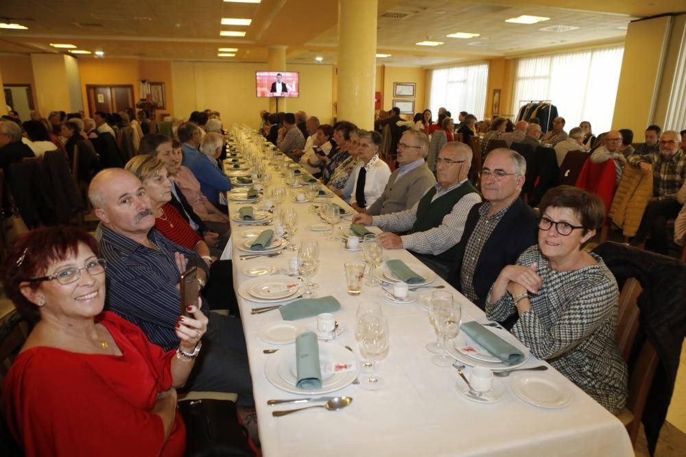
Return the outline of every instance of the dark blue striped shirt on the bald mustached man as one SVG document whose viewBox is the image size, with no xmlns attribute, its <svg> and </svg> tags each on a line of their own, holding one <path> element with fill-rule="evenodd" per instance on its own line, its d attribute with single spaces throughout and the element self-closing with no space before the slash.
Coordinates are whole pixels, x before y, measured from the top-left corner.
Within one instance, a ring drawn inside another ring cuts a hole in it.
<svg viewBox="0 0 686 457">
<path fill-rule="evenodd" d="M 100 255 L 107 260 L 106 309 L 141 328 L 151 343 L 165 351 L 178 346 L 175 328 L 180 316 L 180 295 L 176 284 L 180 273 L 174 253 L 188 260 L 188 268 L 198 267 L 209 275 L 206 263 L 190 249 L 165 238 L 155 229 L 147 239 L 150 249 L 100 224 L 95 232 Z M 204 312 L 207 305 L 202 304 Z"/>
</svg>

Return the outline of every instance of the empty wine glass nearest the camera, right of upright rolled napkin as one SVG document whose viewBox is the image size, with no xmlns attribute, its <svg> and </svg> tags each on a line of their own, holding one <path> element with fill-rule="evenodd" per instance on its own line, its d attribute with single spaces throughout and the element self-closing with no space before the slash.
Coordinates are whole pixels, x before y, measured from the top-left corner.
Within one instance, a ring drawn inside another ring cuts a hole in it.
<svg viewBox="0 0 686 457">
<path fill-rule="evenodd" d="M 388 321 L 377 314 L 364 314 L 357 321 L 357 326 L 359 329 L 355 333 L 359 334 L 359 351 L 371 365 L 371 372 L 360 380 L 360 386 L 368 391 L 377 391 L 384 382 L 383 378 L 376 375 L 375 362 L 388 355 Z"/>
</svg>

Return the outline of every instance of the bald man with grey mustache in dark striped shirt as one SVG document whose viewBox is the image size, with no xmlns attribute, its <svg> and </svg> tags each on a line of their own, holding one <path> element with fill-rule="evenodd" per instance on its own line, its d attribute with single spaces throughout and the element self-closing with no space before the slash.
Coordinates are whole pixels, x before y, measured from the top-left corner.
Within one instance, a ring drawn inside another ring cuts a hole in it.
<svg viewBox="0 0 686 457">
<path fill-rule="evenodd" d="M 88 198 L 101 221 L 96 238 L 108 267 L 106 309 L 138 325 L 165 351 L 176 349 L 180 273 L 198 267 L 202 289 L 208 280 L 208 265 L 195 252 L 154 229 L 150 199 L 141 181 L 129 171 L 101 171 L 93 177 Z M 217 280 L 227 282 L 230 277 Z M 251 405 L 252 381 L 240 319 L 210 313 L 205 300 L 202 310 L 209 323 L 187 386 L 193 391 L 235 392 L 239 404 Z"/>
</svg>

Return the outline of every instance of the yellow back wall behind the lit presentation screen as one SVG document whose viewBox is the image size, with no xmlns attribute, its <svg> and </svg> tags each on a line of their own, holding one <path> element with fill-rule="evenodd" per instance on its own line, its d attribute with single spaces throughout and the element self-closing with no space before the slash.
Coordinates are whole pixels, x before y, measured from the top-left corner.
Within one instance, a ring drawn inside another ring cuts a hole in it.
<svg viewBox="0 0 686 457">
<path fill-rule="evenodd" d="M 255 96 L 255 71 L 266 64 L 224 62 L 171 62 L 175 100 L 174 116 L 188 119 L 193 110 L 211 108 L 222 114 L 225 125 L 246 123 L 256 127 L 259 111 L 269 109 L 269 100 Z M 300 97 L 288 99 L 288 111 L 303 110 L 331 123 L 333 109 L 333 67 L 331 65 L 289 65 L 300 73 Z M 279 108 L 281 110 L 281 108 Z"/>
</svg>

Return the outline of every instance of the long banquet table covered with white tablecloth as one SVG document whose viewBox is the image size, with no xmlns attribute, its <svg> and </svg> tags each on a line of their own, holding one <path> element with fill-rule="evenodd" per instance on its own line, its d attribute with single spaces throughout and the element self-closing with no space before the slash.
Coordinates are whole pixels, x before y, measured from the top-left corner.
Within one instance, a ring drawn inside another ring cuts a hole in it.
<svg viewBox="0 0 686 457">
<path fill-rule="evenodd" d="M 241 132 L 236 132 L 237 135 Z M 274 169 L 271 186 L 284 186 L 283 178 Z M 366 391 L 351 384 L 333 394 L 353 397 L 353 403 L 344 410 L 330 412 L 315 408 L 296 412 L 285 417 L 272 417 L 272 410 L 298 408 L 303 405 L 268 406 L 268 399 L 289 399 L 307 396 L 281 391 L 265 377 L 265 362 L 273 354 L 263 349 L 285 347 L 264 343 L 258 336 L 263 325 L 281 320 L 278 310 L 263 314 L 250 314 L 251 308 L 264 306 L 239 297 L 243 328 L 248 345 L 250 373 L 259 420 L 262 452 L 276 456 L 630 456 L 632 447 L 626 430 L 611 413 L 606 411 L 563 375 L 554 369 L 547 373 L 568 386 L 572 391 L 571 404 L 560 409 L 532 406 L 512 392 L 508 378 L 505 395 L 499 402 L 480 404 L 471 402 L 456 391 L 458 373 L 453 368 L 433 365 L 432 354 L 425 344 L 435 341 L 436 334 L 427 310 L 414 304 L 395 305 L 383 297 L 381 288 L 364 287 L 362 295 L 353 297 L 346 292 L 343 264 L 361 253 L 344 251 L 340 240 L 329 241 L 308 226 L 320 222 L 316 214 L 307 212 L 309 205 L 294 203 L 292 196 L 283 202 L 284 207 L 298 212 L 296 245 L 304 238 L 318 240 L 320 267 L 314 281 L 319 297 L 333 295 L 342 309 L 335 313 L 344 334 L 320 345 L 349 345 L 359 358 L 355 341 L 355 312 L 362 301 L 378 301 L 388 319 L 390 350 L 378 362 L 377 374 L 385 380 L 379 391 Z M 346 204 L 334 197 L 335 203 Z M 229 201 L 230 214 L 246 203 Z M 261 207 L 261 202 L 256 204 Z M 339 225 L 349 224 L 343 218 Z M 231 221 L 232 243 L 222 258 L 233 258 L 233 280 L 236 290 L 252 278 L 242 271 L 254 265 L 287 267 L 288 258 L 296 253 L 286 252 L 274 258 L 239 260 L 244 252 L 237 243 L 244 243 L 241 233 L 251 227 L 240 227 Z M 255 227 L 260 229 L 272 227 Z M 384 252 L 385 258 L 399 258 L 405 262 L 417 260 L 403 249 Z M 440 277 L 434 284 L 446 284 Z M 456 300 L 462 304 L 462 321 L 485 322 L 482 310 L 462 294 L 446 284 Z M 430 294 L 431 289 L 420 291 Z M 314 322 L 316 318 L 306 319 Z M 541 365 L 533 356 L 525 367 Z M 466 371 L 469 371 L 467 367 Z M 360 373 L 362 378 L 363 373 Z M 305 405 L 307 406 L 307 405 Z"/>
</svg>

